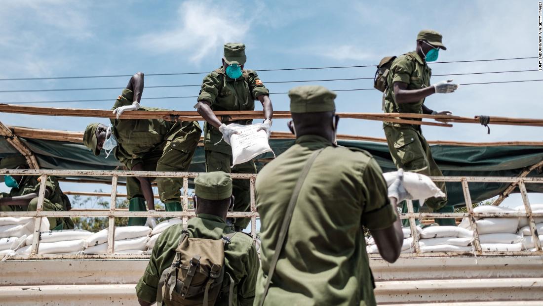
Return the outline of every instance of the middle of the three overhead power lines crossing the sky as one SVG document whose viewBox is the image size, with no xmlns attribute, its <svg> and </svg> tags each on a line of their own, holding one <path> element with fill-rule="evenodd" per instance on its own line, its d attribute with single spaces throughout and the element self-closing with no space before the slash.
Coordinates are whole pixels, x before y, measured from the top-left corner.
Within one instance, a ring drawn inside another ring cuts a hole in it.
<svg viewBox="0 0 543 306">
<path fill-rule="evenodd" d="M 533 72 L 539 71 L 537 69 L 532 70 L 510 70 L 510 71 L 489 71 L 489 72 L 468 72 L 468 73 L 447 73 L 447 74 L 434 74 L 434 77 L 438 76 L 466 76 L 472 74 L 497 74 L 497 73 L 513 73 L 513 72 Z M 351 81 L 351 80 L 368 80 L 374 79 L 374 77 L 365 78 L 344 78 L 344 79 L 319 79 L 319 80 L 292 80 L 292 81 L 272 81 L 266 82 L 266 84 L 279 84 L 279 83 L 307 83 L 307 82 L 332 82 L 332 81 Z M 148 88 L 183 88 L 183 87 L 200 87 L 199 84 L 194 85 L 157 85 L 157 86 L 145 86 Z M 0 90 L 0 93 L 12 93 L 12 92 L 49 92 L 49 91 L 82 91 L 82 90 L 121 90 L 124 87 L 99 87 L 99 88 L 62 88 L 62 89 L 17 89 L 17 90 Z"/>
</svg>

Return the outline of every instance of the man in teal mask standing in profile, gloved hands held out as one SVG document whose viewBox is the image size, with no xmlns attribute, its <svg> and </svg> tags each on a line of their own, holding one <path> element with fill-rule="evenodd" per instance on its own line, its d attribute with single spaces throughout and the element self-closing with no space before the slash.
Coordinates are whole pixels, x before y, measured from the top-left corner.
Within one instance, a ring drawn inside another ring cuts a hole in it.
<svg viewBox="0 0 543 306">
<path fill-rule="evenodd" d="M 385 113 L 412 113 L 449 115 L 450 111 L 434 111 L 425 105 L 425 98 L 434 93 L 454 92 L 458 85 L 452 80 L 444 80 L 430 85 L 432 70 L 427 62 L 438 59 L 439 49 L 446 50 L 443 36 L 434 30 L 421 30 L 416 37 L 415 51 L 397 57 L 388 74 L 388 88 L 383 94 Z M 404 118 L 421 121 L 419 118 Z M 443 176 L 432 158 L 432 151 L 420 125 L 383 122 L 384 134 L 387 137 L 390 155 L 397 168 L 417 172 L 426 176 Z M 436 185 L 445 194 L 445 182 Z M 434 212 L 453 213 L 453 207 L 447 207 L 447 198 L 429 198 L 425 204 Z M 420 209 L 418 201 L 413 203 L 415 213 Z M 403 212 L 407 212 L 404 203 Z M 404 220 L 404 225 L 408 225 Z M 440 225 L 456 225 L 453 218 L 437 219 Z"/>
</svg>

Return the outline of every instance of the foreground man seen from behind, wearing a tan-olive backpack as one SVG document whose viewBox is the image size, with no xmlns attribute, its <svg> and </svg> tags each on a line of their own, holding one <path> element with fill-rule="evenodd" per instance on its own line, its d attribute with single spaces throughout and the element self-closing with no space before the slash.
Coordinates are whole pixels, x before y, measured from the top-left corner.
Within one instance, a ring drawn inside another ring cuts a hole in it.
<svg viewBox="0 0 543 306">
<path fill-rule="evenodd" d="M 233 233 L 226 224 L 226 213 L 233 205 L 232 179 L 222 172 L 201 173 L 194 179 L 194 203 L 196 217 L 188 220 L 187 230 L 191 238 L 222 239 Z M 183 224 L 175 224 L 163 232 L 153 248 L 149 264 L 136 285 L 136 293 L 141 305 L 151 305 L 156 301 L 160 276 L 172 266 L 175 249 L 181 239 Z M 243 233 L 231 237 L 225 246 L 225 272 L 235 282 L 233 286 L 233 305 L 252 305 L 255 298 L 255 283 L 258 271 L 258 254 L 252 238 Z M 215 305 L 228 305 L 229 293 L 223 292 Z"/>
</svg>

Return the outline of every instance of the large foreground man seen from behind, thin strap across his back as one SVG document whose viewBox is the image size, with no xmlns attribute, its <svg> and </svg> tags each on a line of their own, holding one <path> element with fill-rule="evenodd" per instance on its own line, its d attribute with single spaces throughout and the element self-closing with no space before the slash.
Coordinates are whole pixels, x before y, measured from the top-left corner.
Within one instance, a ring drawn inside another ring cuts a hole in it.
<svg viewBox="0 0 543 306">
<path fill-rule="evenodd" d="M 255 182 L 262 265 L 255 305 L 375 305 L 363 226 L 394 262 L 403 240 L 401 179 L 387 196 L 371 155 L 335 144 L 335 93 L 300 86 L 288 96 L 296 141 Z"/>
</svg>

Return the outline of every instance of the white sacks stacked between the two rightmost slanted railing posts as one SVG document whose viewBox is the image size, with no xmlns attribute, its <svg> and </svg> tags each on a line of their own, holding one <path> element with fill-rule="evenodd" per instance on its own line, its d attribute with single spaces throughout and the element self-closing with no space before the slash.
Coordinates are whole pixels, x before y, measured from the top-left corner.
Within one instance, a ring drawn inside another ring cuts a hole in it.
<svg viewBox="0 0 543 306">
<path fill-rule="evenodd" d="M 516 213 L 507 207 L 484 205 L 473 208 L 474 213 Z M 477 233 L 483 252 L 507 252 L 522 250 L 522 234 L 519 230 L 519 218 L 476 218 Z M 459 227 L 469 228 L 468 218 L 464 218 Z"/>
</svg>

